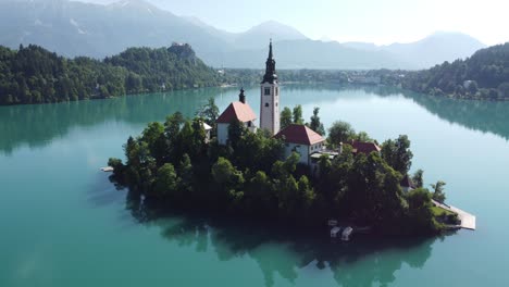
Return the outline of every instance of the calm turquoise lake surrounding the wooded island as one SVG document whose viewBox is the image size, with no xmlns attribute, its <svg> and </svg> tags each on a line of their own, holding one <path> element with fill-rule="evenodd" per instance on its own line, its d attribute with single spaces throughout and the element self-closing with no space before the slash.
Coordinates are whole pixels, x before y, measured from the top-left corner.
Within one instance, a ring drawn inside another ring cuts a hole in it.
<svg viewBox="0 0 509 287">
<path fill-rule="evenodd" d="M 320 107 L 383 141 L 407 134 L 412 171 L 447 183 L 477 230 L 333 245 L 175 215 L 140 223 L 99 171 L 147 123 L 236 88 L 0 107 L 0 286 L 505 286 L 509 282 L 509 102 L 394 88 L 283 86 L 282 105 Z M 259 87 L 246 89 L 258 113 Z M 326 235 L 324 235 L 326 236 Z"/>
</svg>

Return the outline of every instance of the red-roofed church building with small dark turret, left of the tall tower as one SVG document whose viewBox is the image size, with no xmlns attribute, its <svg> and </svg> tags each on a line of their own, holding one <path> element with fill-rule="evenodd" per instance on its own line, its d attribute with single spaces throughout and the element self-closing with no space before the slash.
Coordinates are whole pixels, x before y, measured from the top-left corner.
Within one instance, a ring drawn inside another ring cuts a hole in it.
<svg viewBox="0 0 509 287">
<path fill-rule="evenodd" d="M 252 111 L 251 107 L 246 102 L 244 89 L 240 89 L 238 98 L 239 100 L 232 102 L 215 121 L 218 124 L 218 142 L 220 145 L 226 145 L 228 142 L 228 126 L 234 120 L 238 120 L 244 123 L 249 132 L 253 133 L 257 129 L 257 126 L 254 125 L 257 115 Z"/>
</svg>

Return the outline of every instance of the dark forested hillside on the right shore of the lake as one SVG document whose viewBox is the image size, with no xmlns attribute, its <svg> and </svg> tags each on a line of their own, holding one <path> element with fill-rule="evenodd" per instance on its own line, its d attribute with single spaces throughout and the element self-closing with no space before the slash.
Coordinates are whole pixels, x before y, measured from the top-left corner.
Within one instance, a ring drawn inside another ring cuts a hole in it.
<svg viewBox="0 0 509 287">
<path fill-rule="evenodd" d="M 390 74 L 390 73 L 389 73 Z M 392 72 L 388 84 L 437 96 L 509 99 L 509 43 L 479 50 L 465 60 L 445 62 L 419 72 Z M 398 77 L 399 74 L 399 77 Z"/>
</svg>

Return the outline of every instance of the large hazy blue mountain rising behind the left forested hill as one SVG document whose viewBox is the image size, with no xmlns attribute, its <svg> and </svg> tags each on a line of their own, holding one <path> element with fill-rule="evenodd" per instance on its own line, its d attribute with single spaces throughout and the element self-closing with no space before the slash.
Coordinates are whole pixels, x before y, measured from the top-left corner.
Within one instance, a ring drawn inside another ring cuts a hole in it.
<svg viewBox="0 0 509 287">
<path fill-rule="evenodd" d="M 66 57 L 103 58 L 128 47 L 191 42 L 197 53 L 227 46 L 222 39 L 141 0 L 109 5 L 67 0 L 0 2 L 0 43 L 36 43 Z"/>
</svg>

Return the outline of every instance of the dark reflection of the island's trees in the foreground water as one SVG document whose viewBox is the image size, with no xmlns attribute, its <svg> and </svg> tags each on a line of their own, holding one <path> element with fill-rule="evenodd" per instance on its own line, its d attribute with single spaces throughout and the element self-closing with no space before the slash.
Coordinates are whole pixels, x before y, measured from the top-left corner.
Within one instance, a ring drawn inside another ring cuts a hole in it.
<svg viewBox="0 0 509 287">
<path fill-rule="evenodd" d="M 129 192 L 131 194 L 131 192 Z M 161 235 L 196 252 L 213 250 L 221 261 L 243 255 L 253 259 L 265 286 L 274 286 L 275 274 L 295 284 L 303 267 L 334 274 L 340 286 L 387 286 L 404 263 L 421 269 L 431 257 L 434 239 L 356 237 L 352 242 L 333 244 L 326 235 L 310 238 L 298 232 L 277 232 L 266 227 L 241 226 L 235 221 L 206 220 L 201 216 L 169 215 L 147 211 L 138 197 L 127 196 L 127 209 L 139 222 L 157 225 Z M 213 227 L 211 227 L 213 226 Z"/>
</svg>

